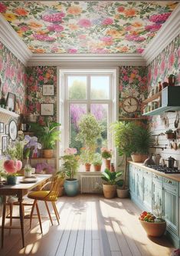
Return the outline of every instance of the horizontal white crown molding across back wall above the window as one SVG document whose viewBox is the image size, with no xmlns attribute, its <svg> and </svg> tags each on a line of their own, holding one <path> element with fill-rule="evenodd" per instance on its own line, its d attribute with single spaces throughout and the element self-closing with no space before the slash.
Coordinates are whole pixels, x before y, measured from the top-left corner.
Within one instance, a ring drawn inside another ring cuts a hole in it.
<svg viewBox="0 0 180 256">
<path fill-rule="evenodd" d="M 33 54 L 28 61 L 28 66 L 34 65 L 55 65 L 55 66 L 72 66 L 74 65 L 93 65 L 110 66 L 110 65 L 133 65 L 145 66 L 146 61 L 139 54 L 111 54 L 111 55 L 86 55 L 86 54 Z"/>
</svg>

